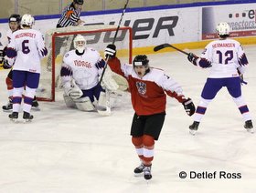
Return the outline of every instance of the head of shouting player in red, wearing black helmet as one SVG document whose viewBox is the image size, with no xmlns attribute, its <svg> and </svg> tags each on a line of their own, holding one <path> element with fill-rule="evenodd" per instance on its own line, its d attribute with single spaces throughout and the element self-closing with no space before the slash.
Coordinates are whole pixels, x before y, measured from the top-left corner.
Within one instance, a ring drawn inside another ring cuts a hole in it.
<svg viewBox="0 0 256 193">
<path fill-rule="evenodd" d="M 148 62 L 149 60 L 145 55 L 138 55 L 134 57 L 133 68 L 138 76 L 144 76 L 149 72 Z"/>
</svg>

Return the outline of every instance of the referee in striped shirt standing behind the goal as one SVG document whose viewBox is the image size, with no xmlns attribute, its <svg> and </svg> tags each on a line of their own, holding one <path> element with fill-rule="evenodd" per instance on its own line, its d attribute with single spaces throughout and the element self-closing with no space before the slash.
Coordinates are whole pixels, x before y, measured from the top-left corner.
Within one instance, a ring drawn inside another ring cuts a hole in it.
<svg viewBox="0 0 256 193">
<path fill-rule="evenodd" d="M 73 0 L 73 2 L 65 7 L 57 24 L 57 28 L 66 26 L 76 26 L 84 23 L 80 20 L 80 12 L 83 5 L 83 0 Z"/>
</svg>

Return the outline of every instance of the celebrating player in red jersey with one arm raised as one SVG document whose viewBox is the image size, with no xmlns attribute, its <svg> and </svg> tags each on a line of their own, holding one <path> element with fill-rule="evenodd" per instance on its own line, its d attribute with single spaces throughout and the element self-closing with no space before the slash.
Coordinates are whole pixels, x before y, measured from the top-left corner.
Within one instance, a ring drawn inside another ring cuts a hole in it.
<svg viewBox="0 0 256 193">
<path fill-rule="evenodd" d="M 175 97 L 185 107 L 188 116 L 194 114 L 195 106 L 189 97 L 183 95 L 181 86 L 173 78 L 166 76 L 163 70 L 149 66 L 147 56 L 135 56 L 133 66 L 123 65 L 115 57 L 114 48 L 107 46 L 105 55 L 110 55 L 108 64 L 112 71 L 126 77 L 135 111 L 131 136 L 141 165 L 134 169 L 134 173 L 144 173 L 144 178 L 148 180 L 152 178 L 155 140 L 165 121 L 166 95 Z"/>
</svg>

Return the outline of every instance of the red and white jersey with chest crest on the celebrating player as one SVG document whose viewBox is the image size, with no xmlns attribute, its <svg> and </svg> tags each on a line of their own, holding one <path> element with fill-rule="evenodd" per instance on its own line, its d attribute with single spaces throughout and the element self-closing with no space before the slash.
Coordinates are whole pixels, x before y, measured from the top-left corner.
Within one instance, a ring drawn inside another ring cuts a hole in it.
<svg viewBox="0 0 256 193">
<path fill-rule="evenodd" d="M 133 109 L 138 116 L 164 112 L 166 94 L 175 97 L 180 103 L 186 100 L 181 86 L 161 69 L 150 68 L 142 78 L 136 74 L 132 65 L 122 65 L 121 69 L 129 83 Z"/>
</svg>

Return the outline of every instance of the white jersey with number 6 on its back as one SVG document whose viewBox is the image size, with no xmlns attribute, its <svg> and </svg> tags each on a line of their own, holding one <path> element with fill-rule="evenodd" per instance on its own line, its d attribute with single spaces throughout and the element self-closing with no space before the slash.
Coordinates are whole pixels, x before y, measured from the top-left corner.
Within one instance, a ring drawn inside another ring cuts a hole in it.
<svg viewBox="0 0 256 193">
<path fill-rule="evenodd" d="M 12 34 L 7 46 L 8 61 L 15 61 L 13 69 L 40 73 L 40 59 L 47 56 L 48 50 L 41 32 L 35 29 L 17 30 Z"/>
</svg>

